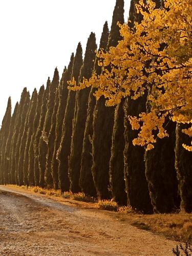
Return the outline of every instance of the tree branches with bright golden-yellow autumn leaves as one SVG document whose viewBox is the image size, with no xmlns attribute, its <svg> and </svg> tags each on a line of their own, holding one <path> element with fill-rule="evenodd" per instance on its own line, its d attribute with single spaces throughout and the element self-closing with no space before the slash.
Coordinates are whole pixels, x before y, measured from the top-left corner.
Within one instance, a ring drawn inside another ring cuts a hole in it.
<svg viewBox="0 0 192 256">
<path fill-rule="evenodd" d="M 69 88 L 96 87 L 96 98 L 104 95 L 106 105 L 127 96 L 137 99 L 147 91 L 150 111 L 129 120 L 139 130 L 133 143 L 150 150 L 157 137 L 168 136 L 167 120 L 188 123 L 183 133 L 192 137 L 192 0 L 164 0 L 160 9 L 152 0 L 140 0 L 136 7 L 142 22 L 133 28 L 119 25 L 122 40 L 117 47 L 97 53 L 102 74 L 80 84 L 72 80 Z M 183 146 L 192 151 L 192 142 Z"/>
</svg>

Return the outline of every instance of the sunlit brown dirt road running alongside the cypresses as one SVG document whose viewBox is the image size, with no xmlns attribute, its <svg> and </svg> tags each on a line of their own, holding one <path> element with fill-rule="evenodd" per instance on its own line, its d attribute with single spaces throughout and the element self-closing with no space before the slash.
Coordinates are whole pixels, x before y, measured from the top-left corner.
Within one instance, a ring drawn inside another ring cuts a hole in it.
<svg viewBox="0 0 192 256">
<path fill-rule="evenodd" d="M 83 204 L 0 186 L 0 255 L 173 255 L 177 242 Z"/>
</svg>

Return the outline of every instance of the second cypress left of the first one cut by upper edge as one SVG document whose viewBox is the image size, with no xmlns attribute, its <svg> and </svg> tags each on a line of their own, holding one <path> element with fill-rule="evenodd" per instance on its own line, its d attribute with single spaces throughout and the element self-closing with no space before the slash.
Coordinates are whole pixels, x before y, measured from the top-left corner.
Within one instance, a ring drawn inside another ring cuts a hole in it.
<svg viewBox="0 0 192 256">
<path fill-rule="evenodd" d="M 92 75 L 94 68 L 94 60 L 96 56 L 97 45 L 95 34 L 91 33 L 88 38 L 86 53 L 84 54 L 84 61 L 81 67 L 79 82 L 82 82 L 83 77 L 89 79 Z M 72 129 L 71 141 L 71 155 L 69 158 L 69 178 L 70 190 L 73 193 L 80 191 L 79 177 L 80 177 L 80 164 L 82 154 L 82 144 L 84 137 L 84 129 L 86 126 L 87 111 L 88 111 L 88 98 L 90 88 L 80 90 L 76 93 L 74 121 Z"/>
</svg>

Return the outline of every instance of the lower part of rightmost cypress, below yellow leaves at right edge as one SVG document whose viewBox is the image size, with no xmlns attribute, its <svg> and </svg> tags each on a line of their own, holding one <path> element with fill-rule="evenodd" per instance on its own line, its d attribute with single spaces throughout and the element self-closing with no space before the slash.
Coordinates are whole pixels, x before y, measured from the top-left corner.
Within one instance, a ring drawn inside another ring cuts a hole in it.
<svg viewBox="0 0 192 256">
<path fill-rule="evenodd" d="M 177 123 L 176 126 L 176 147 L 175 147 L 175 167 L 179 182 L 179 191 L 181 195 L 181 207 L 186 212 L 192 211 L 192 152 L 185 150 L 182 144 L 190 145 L 191 138 L 182 132 L 187 129 L 189 124 Z"/>
</svg>

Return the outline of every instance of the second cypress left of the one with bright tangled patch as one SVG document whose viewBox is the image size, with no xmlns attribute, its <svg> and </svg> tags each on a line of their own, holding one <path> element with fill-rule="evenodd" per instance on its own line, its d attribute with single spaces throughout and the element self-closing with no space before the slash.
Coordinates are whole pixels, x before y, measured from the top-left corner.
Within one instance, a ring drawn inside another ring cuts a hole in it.
<svg viewBox="0 0 192 256">
<path fill-rule="evenodd" d="M 31 130 L 31 141 L 29 145 L 29 164 L 28 164 L 28 183 L 31 186 L 35 185 L 35 174 L 34 174 L 34 162 L 35 162 L 35 155 L 34 155 L 34 140 L 35 140 L 35 135 L 37 132 L 37 127 L 39 124 L 39 119 L 40 119 L 40 108 L 42 105 L 42 96 L 44 94 L 45 88 L 44 86 L 40 87 L 38 96 L 37 96 L 37 102 L 33 102 L 33 110 L 31 110 L 31 116 L 34 114 L 34 122 L 31 120 L 31 123 L 33 123 L 32 130 Z M 35 108 L 35 103 L 36 103 L 36 109 Z M 30 125 L 30 120 L 29 120 L 29 125 Z M 27 167 L 27 162 L 25 163 Z"/>
</svg>

